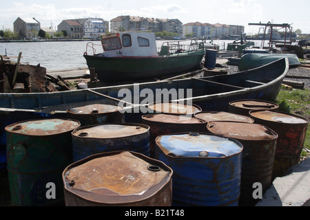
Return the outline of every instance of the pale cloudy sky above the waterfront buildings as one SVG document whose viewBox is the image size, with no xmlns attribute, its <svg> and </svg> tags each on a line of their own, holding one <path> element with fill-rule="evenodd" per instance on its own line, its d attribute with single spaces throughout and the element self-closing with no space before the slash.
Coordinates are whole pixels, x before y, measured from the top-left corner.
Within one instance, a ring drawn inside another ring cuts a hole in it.
<svg viewBox="0 0 310 220">
<path fill-rule="evenodd" d="M 262 26 L 249 23 L 289 23 L 293 31 L 310 34 L 309 0 L 1 0 L 0 30 L 13 30 L 18 18 L 35 17 L 41 28 L 65 19 L 96 17 L 110 21 L 120 15 L 179 19 L 185 23 L 243 25 L 245 33 L 257 34 Z"/>
</svg>

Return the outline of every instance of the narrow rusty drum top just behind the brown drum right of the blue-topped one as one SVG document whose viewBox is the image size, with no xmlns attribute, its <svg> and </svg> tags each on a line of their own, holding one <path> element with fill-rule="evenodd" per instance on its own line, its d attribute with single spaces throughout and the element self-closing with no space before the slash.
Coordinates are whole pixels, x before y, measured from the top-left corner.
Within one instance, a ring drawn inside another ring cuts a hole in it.
<svg viewBox="0 0 310 220">
<path fill-rule="evenodd" d="M 211 121 L 229 121 L 229 122 L 245 122 L 254 123 L 254 119 L 245 115 L 238 115 L 235 113 L 229 113 L 226 111 L 201 111 L 194 115 L 195 118 Z"/>
</svg>

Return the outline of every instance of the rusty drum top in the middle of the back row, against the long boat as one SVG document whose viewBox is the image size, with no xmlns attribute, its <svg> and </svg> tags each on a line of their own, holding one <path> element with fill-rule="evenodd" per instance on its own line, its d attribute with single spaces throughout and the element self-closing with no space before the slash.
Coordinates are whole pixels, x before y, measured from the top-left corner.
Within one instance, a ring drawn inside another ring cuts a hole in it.
<svg viewBox="0 0 310 220">
<path fill-rule="evenodd" d="M 176 115 L 194 115 L 202 111 L 196 104 L 180 104 L 177 102 L 154 102 L 147 107 L 149 113 L 169 113 Z"/>
</svg>

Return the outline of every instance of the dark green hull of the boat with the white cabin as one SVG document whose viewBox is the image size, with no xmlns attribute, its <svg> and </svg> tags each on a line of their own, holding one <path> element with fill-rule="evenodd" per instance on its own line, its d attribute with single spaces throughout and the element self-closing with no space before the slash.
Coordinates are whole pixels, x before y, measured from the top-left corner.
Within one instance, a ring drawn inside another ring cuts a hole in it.
<svg viewBox="0 0 310 220">
<path fill-rule="evenodd" d="M 105 57 L 84 55 L 87 66 L 94 67 L 99 80 L 120 82 L 156 78 L 194 69 L 200 65 L 204 50 L 169 56 Z"/>
</svg>

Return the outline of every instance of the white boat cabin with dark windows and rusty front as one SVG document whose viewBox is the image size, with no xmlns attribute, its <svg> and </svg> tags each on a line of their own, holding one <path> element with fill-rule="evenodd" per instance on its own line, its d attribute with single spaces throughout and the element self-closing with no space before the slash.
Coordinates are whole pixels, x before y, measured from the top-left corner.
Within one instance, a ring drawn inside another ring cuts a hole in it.
<svg viewBox="0 0 310 220">
<path fill-rule="evenodd" d="M 103 35 L 103 56 L 158 56 L 155 34 L 152 32 L 121 32 Z"/>
</svg>

